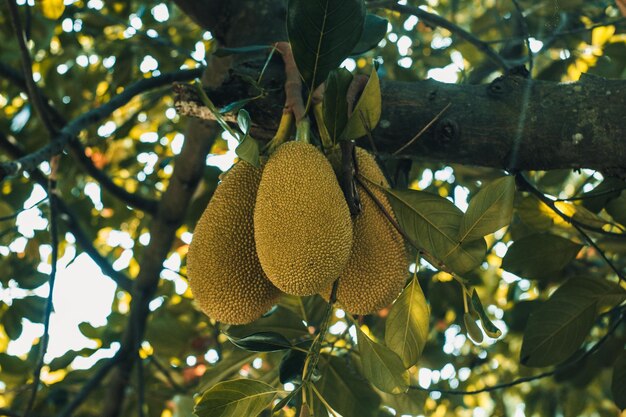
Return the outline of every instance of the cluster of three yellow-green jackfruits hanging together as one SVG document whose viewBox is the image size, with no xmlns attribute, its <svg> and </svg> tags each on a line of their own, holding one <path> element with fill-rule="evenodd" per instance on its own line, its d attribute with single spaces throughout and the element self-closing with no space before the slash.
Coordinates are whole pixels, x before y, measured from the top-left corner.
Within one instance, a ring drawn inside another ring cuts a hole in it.
<svg viewBox="0 0 626 417">
<path fill-rule="evenodd" d="M 281 145 L 262 169 L 237 163 L 189 247 L 189 285 L 200 309 L 245 324 L 281 292 L 328 298 L 338 278 L 337 303 L 348 312 L 390 304 L 408 271 L 404 242 L 378 206 L 393 217 L 374 185 L 388 186 L 373 156 L 357 148 L 356 164 L 367 190 L 358 185 L 362 210 L 351 217 L 333 165 L 311 144 Z"/>
</svg>

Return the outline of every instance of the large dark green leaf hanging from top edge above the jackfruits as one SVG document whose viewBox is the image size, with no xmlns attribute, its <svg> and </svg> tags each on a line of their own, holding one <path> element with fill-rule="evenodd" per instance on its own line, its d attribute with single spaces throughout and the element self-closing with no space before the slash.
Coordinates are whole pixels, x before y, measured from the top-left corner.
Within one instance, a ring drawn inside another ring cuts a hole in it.
<svg viewBox="0 0 626 417">
<path fill-rule="evenodd" d="M 287 35 L 309 93 L 348 57 L 364 23 L 363 0 L 289 0 Z"/>
</svg>

